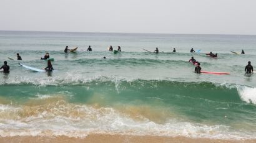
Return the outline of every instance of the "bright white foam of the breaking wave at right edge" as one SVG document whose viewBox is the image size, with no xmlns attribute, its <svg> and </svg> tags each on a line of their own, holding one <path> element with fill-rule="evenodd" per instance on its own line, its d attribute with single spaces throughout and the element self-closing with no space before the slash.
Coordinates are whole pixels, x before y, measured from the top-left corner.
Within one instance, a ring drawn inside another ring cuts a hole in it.
<svg viewBox="0 0 256 143">
<path fill-rule="evenodd" d="M 237 91 L 239 92 L 239 96 L 243 101 L 256 104 L 256 88 L 239 86 Z"/>
</svg>

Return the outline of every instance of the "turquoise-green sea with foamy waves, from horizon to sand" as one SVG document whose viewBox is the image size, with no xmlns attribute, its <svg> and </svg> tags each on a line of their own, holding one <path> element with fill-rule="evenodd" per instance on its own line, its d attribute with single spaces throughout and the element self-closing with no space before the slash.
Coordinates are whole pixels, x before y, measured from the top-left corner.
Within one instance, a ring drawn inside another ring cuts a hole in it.
<svg viewBox="0 0 256 143">
<path fill-rule="evenodd" d="M 64 47 L 79 47 L 64 53 Z M 88 45 L 92 52 L 86 52 Z M 122 52 L 107 51 L 112 45 Z M 255 35 L 0 32 L 0 135 L 91 133 L 255 139 L 256 80 L 244 67 L 256 61 Z M 159 47 L 159 54 L 153 51 Z M 177 53 L 172 53 L 175 47 Z M 200 53 L 189 53 L 191 47 Z M 245 55 L 235 55 L 244 49 Z M 218 58 L 205 55 L 219 53 Z M 17 64 L 46 67 L 40 73 Z M 103 59 L 103 57 L 106 59 Z M 206 71 L 195 74 L 194 56 Z"/>
</svg>

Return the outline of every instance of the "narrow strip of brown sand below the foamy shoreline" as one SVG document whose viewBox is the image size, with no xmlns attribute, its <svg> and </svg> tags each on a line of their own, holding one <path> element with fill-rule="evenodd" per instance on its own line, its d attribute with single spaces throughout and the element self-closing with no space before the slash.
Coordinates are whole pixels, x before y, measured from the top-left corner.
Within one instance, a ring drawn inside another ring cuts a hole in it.
<svg viewBox="0 0 256 143">
<path fill-rule="evenodd" d="M 202 139 L 202 138 L 189 138 L 189 137 L 163 137 L 163 136 L 125 136 L 125 135 L 111 135 L 111 134 L 91 134 L 85 138 L 57 136 L 14 136 L 14 137 L 0 137 L 1 143 L 30 143 L 30 142 L 52 142 L 52 143 L 82 143 L 82 142 L 94 142 L 94 143 L 117 143 L 117 142 L 190 142 L 190 143 L 217 143 L 217 142 L 256 142 L 256 140 L 222 140 L 222 139 Z"/>
</svg>

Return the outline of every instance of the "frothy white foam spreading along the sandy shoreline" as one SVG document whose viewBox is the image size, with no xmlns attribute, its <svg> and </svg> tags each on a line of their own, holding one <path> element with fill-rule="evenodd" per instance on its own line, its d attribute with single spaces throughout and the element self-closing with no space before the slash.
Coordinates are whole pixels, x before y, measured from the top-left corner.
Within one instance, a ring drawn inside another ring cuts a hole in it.
<svg viewBox="0 0 256 143">
<path fill-rule="evenodd" d="M 19 114 L 19 109 L 11 113 Z M 76 116 L 65 114 L 76 111 Z M 2 114 L 2 113 L 1 113 Z M 206 137 L 211 139 L 255 139 L 253 132 L 234 131 L 228 126 L 196 124 L 170 119 L 157 124 L 149 119 L 134 120 L 112 108 L 61 104 L 26 118 L 0 119 L 0 136 L 69 136 L 125 134 L 151 136 Z"/>
</svg>

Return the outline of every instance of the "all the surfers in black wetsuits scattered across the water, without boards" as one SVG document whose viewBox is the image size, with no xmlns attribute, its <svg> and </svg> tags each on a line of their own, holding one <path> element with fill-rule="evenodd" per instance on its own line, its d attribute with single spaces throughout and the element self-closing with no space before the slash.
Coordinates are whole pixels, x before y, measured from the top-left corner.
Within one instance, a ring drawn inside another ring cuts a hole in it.
<svg viewBox="0 0 256 143">
<path fill-rule="evenodd" d="M 66 46 L 66 48 L 64 49 L 64 52 L 67 53 L 67 51 L 69 51 L 71 49 L 68 48 L 68 46 Z M 91 45 L 89 45 L 89 47 L 87 48 L 87 51 L 92 51 L 92 48 L 91 48 Z M 112 45 L 109 47 L 109 51 L 113 51 L 113 47 Z M 118 52 L 121 52 L 121 47 L 118 46 L 117 48 L 117 51 Z M 159 49 L 156 48 L 154 50 L 155 53 L 159 53 Z M 176 52 L 176 49 L 174 48 L 173 52 Z M 195 50 L 193 48 L 191 48 L 190 50 L 191 53 L 195 52 Z M 244 50 L 242 50 L 242 53 L 241 54 L 245 54 Z M 17 60 L 22 60 L 21 56 L 19 55 L 19 53 L 16 54 L 17 55 Z M 217 53 L 207 53 L 206 55 L 210 55 L 210 57 L 217 57 Z M 47 60 L 47 67 L 44 68 L 44 70 L 46 71 L 52 71 L 54 70 L 54 68 L 52 67 L 52 63 L 51 63 L 51 60 L 49 60 L 50 58 L 50 55 L 49 53 L 47 52 L 46 55 L 44 55 L 44 57 L 41 58 L 41 60 Z M 106 58 L 106 57 L 104 57 Z M 200 67 L 200 63 L 197 62 L 197 60 L 195 60 L 194 57 L 191 57 L 191 59 L 189 60 L 189 62 L 193 63 L 193 65 L 196 65 L 195 67 L 195 73 L 201 73 L 201 70 L 202 68 Z M 9 73 L 9 65 L 7 65 L 7 62 L 4 61 L 4 65 L 2 65 L 2 67 L 0 68 L 0 70 L 3 69 L 3 73 Z M 251 65 L 251 62 L 249 61 L 248 62 L 248 65 L 245 67 L 245 73 L 253 73 L 254 71 L 254 68 L 252 67 Z"/>
</svg>

